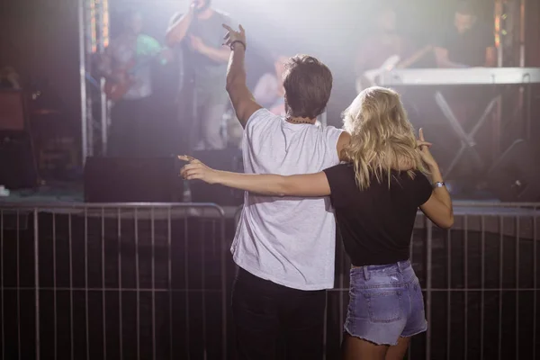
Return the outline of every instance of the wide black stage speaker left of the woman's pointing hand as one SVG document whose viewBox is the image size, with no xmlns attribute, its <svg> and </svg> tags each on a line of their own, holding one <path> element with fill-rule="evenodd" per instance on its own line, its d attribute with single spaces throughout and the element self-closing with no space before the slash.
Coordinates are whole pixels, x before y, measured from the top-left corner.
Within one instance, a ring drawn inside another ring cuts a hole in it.
<svg viewBox="0 0 540 360">
<path fill-rule="evenodd" d="M 176 157 L 88 157 L 86 202 L 179 202 L 183 183 Z"/>
</svg>

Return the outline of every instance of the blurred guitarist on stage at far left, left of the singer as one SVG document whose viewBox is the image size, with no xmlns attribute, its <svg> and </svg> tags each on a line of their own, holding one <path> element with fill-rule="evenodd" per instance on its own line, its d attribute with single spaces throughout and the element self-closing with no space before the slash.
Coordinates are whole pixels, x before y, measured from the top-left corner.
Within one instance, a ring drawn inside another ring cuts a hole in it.
<svg viewBox="0 0 540 360">
<path fill-rule="evenodd" d="M 100 59 L 99 70 L 106 78 L 105 93 L 114 102 L 108 155 L 128 157 L 142 155 L 142 146 L 151 119 L 151 65 L 170 58 L 157 40 L 141 34 L 142 16 L 130 11 L 124 15 L 124 29 L 112 40 Z"/>
</svg>

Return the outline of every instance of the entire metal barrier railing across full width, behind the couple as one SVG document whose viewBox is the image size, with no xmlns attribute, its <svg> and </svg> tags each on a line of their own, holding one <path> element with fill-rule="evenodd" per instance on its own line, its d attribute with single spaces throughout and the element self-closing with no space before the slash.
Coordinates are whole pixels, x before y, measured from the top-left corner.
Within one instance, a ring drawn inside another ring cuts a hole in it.
<svg viewBox="0 0 540 360">
<path fill-rule="evenodd" d="M 462 202 L 443 230 L 419 213 L 410 255 L 429 328 L 409 358 L 540 354 L 539 214 L 540 204 Z M 234 358 L 236 220 L 212 204 L 0 204 L 0 358 Z M 350 264 L 337 244 L 327 359 L 347 315 Z"/>
</svg>

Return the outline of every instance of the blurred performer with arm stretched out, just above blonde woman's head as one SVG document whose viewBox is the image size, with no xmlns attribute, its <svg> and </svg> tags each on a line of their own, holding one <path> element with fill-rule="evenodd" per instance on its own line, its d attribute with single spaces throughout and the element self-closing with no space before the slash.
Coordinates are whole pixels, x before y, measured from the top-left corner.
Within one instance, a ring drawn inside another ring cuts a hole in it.
<svg viewBox="0 0 540 360">
<path fill-rule="evenodd" d="M 410 67 L 424 58 L 431 47 L 412 50 L 410 41 L 397 31 L 394 8 L 383 6 L 375 19 L 374 33 L 365 40 L 356 56 L 356 91 L 375 85 L 376 76 L 393 68 Z"/>
</svg>

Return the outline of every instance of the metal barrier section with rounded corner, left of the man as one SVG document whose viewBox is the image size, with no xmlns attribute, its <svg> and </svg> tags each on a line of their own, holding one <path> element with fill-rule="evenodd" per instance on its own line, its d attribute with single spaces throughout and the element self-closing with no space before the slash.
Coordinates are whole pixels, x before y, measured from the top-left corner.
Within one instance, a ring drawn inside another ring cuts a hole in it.
<svg viewBox="0 0 540 360">
<path fill-rule="evenodd" d="M 1 359 L 226 357 L 219 206 L 0 204 L 0 226 Z"/>
</svg>

